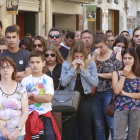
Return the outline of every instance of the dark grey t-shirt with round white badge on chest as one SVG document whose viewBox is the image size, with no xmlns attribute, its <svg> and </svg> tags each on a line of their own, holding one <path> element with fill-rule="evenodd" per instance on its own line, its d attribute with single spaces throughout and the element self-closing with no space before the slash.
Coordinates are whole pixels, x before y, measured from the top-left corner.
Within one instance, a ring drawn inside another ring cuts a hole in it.
<svg viewBox="0 0 140 140">
<path fill-rule="evenodd" d="M 16 53 L 11 53 L 8 50 L 5 50 L 0 54 L 0 57 L 9 56 L 16 63 L 18 72 L 25 71 L 25 68 L 29 67 L 29 51 L 19 49 Z"/>
</svg>

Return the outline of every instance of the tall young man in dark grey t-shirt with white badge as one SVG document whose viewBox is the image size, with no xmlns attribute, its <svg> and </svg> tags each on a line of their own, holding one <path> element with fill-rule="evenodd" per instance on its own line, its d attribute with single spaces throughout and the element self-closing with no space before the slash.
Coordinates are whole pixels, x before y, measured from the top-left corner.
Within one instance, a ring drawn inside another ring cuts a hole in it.
<svg viewBox="0 0 140 140">
<path fill-rule="evenodd" d="M 0 57 L 9 56 L 17 65 L 17 81 L 20 82 L 24 77 L 31 74 L 31 69 L 28 65 L 30 52 L 19 49 L 18 40 L 19 34 L 18 30 L 14 26 L 8 26 L 5 30 L 5 39 L 8 43 L 8 50 L 5 50 L 0 54 Z"/>
</svg>

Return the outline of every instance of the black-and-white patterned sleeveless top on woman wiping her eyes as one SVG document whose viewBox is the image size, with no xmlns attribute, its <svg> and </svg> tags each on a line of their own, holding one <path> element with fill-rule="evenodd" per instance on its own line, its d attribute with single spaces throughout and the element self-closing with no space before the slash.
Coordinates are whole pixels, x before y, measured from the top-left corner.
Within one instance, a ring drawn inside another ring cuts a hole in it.
<svg viewBox="0 0 140 140">
<path fill-rule="evenodd" d="M 116 59 L 116 54 L 113 51 L 110 58 L 105 61 L 97 60 L 97 72 L 98 73 L 112 73 L 115 70 L 122 68 L 122 62 Z M 98 92 L 103 92 L 112 88 L 112 80 L 99 78 L 99 84 L 96 88 Z"/>
</svg>

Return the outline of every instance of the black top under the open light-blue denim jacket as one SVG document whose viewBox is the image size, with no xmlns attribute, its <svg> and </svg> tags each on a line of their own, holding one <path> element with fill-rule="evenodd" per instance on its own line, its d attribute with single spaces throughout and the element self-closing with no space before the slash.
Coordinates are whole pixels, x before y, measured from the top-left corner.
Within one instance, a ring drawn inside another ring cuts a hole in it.
<svg viewBox="0 0 140 140">
<path fill-rule="evenodd" d="M 82 86 L 80 73 L 77 74 L 77 78 L 76 78 L 76 83 L 75 83 L 74 90 L 80 92 L 81 99 L 85 99 L 85 100 L 88 100 L 88 101 L 90 100 L 89 94 L 84 94 L 84 89 L 83 89 L 83 86 Z"/>
</svg>

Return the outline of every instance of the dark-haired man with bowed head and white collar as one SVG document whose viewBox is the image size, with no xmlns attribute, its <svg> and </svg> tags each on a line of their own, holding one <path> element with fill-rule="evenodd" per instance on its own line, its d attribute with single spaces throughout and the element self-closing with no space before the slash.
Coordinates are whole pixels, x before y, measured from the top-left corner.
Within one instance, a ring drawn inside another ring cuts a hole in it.
<svg viewBox="0 0 140 140">
<path fill-rule="evenodd" d="M 74 41 L 74 38 L 75 38 L 75 33 L 70 31 L 66 34 L 65 41 L 63 43 L 60 43 L 60 45 L 64 46 L 67 49 L 70 49 L 70 47 Z"/>
</svg>

